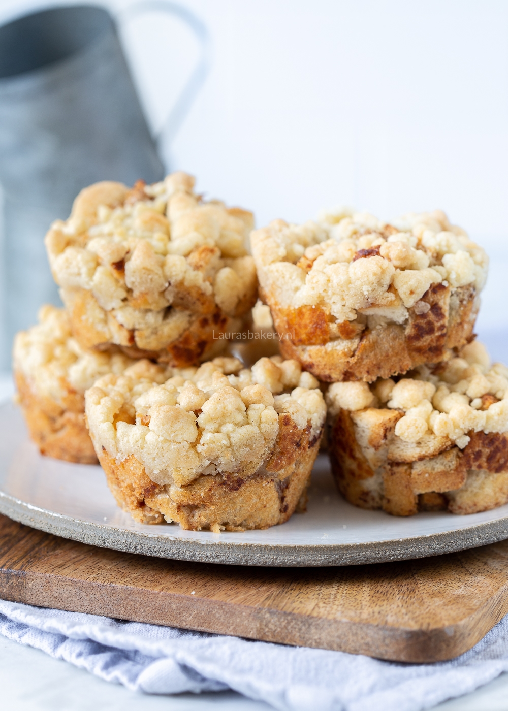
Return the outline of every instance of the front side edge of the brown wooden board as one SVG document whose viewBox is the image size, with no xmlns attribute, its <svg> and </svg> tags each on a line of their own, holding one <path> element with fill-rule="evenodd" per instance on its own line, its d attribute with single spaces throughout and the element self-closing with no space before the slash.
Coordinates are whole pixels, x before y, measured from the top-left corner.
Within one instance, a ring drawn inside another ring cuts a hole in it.
<svg viewBox="0 0 508 711">
<path fill-rule="evenodd" d="M 0 570 L 0 597 L 41 607 L 329 649 L 389 661 L 448 661 L 474 646 L 508 611 L 507 586 L 453 626 L 429 630 L 319 618 L 190 594 L 103 584 L 57 574 Z"/>
</svg>

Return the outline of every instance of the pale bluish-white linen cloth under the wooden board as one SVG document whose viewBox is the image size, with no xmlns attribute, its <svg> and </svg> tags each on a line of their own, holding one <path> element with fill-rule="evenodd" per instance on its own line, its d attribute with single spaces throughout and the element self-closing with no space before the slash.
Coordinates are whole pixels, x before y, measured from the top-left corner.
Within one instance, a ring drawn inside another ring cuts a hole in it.
<svg viewBox="0 0 508 711">
<path fill-rule="evenodd" d="M 148 694 L 233 689 L 281 711 L 420 711 L 508 670 L 508 615 L 449 662 L 403 664 L 0 600 L 0 634 Z"/>
</svg>

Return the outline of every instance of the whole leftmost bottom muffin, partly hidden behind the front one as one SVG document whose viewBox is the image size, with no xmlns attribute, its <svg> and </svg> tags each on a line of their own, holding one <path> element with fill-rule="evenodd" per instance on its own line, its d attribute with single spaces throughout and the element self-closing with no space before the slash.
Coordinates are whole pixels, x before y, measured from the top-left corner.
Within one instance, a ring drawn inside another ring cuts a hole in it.
<svg viewBox="0 0 508 711">
<path fill-rule="evenodd" d="M 14 339 L 18 402 L 33 442 L 56 459 L 96 464 L 85 424 L 85 390 L 134 363 L 124 353 L 83 351 L 63 309 L 42 306 L 39 323 Z"/>
</svg>

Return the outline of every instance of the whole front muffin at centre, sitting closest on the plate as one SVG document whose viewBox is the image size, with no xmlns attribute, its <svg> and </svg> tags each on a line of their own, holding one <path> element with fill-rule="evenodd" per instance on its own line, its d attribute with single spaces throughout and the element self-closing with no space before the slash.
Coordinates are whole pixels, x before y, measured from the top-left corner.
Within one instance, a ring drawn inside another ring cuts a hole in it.
<svg viewBox="0 0 508 711">
<path fill-rule="evenodd" d="M 216 358 L 168 379 L 147 360 L 85 393 L 117 503 L 140 523 L 268 528 L 305 504 L 326 415 L 295 360 Z"/>
</svg>

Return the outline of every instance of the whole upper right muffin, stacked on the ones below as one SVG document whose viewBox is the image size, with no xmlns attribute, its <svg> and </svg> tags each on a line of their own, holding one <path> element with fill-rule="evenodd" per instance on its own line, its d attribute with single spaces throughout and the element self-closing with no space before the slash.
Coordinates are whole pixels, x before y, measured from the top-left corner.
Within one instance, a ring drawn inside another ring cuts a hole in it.
<svg viewBox="0 0 508 711">
<path fill-rule="evenodd" d="M 389 378 L 472 336 L 487 255 L 440 210 L 275 220 L 251 244 L 280 351 L 319 380 Z"/>
</svg>

